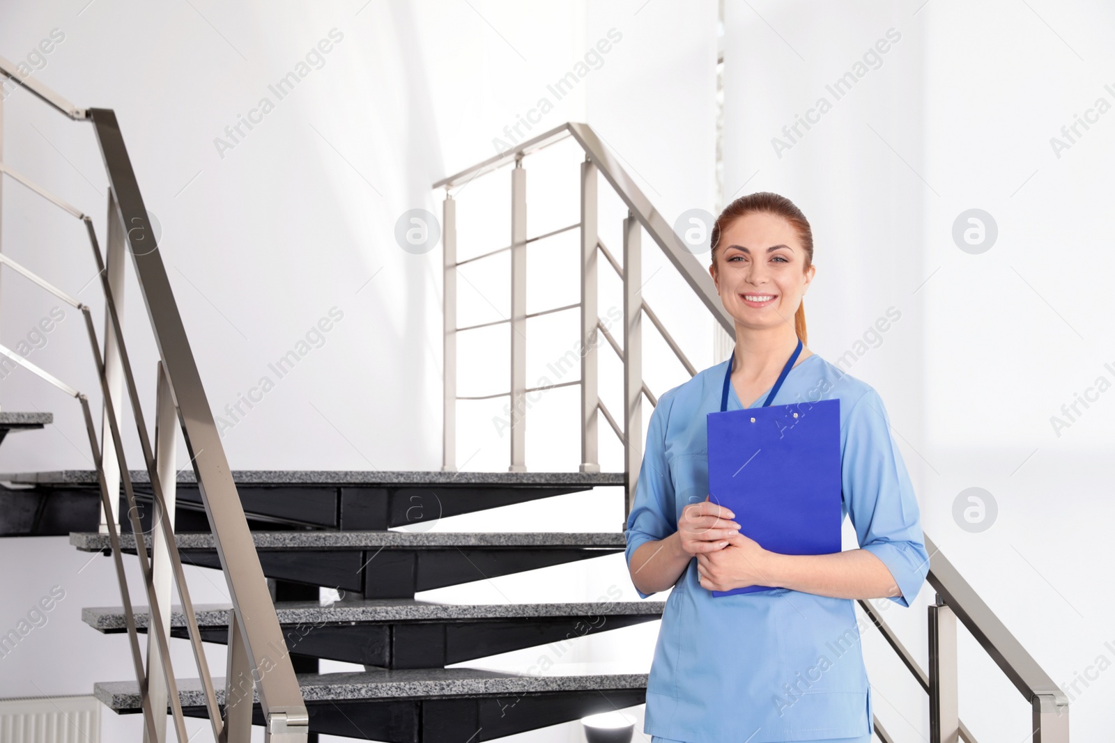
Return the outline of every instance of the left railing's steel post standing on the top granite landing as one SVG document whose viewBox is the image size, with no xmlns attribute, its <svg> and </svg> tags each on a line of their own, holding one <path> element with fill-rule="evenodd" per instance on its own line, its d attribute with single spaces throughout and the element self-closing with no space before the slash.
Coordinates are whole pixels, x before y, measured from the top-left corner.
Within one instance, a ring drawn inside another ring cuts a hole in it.
<svg viewBox="0 0 1115 743">
<path fill-rule="evenodd" d="M 116 313 L 124 317 L 124 251 L 127 235 L 124 225 L 120 223 L 119 211 L 116 205 L 116 197 L 113 190 L 108 190 L 108 235 L 105 239 L 105 273 L 108 276 L 108 286 L 113 292 L 116 302 Z M 105 379 L 108 382 L 108 393 L 113 395 L 113 411 L 116 420 L 123 420 L 124 413 L 124 368 L 120 363 L 120 352 L 116 345 L 116 336 L 113 334 L 112 319 L 108 310 L 105 310 Z M 108 441 L 108 411 L 101 412 L 100 440 Z M 116 459 L 116 451 L 112 447 L 105 447 L 104 468 L 105 482 L 108 486 L 108 499 L 113 505 L 113 519 L 119 524 L 120 518 L 120 466 Z M 105 524 L 106 514 L 100 515 L 100 534 L 107 534 L 108 527 Z"/>
</svg>

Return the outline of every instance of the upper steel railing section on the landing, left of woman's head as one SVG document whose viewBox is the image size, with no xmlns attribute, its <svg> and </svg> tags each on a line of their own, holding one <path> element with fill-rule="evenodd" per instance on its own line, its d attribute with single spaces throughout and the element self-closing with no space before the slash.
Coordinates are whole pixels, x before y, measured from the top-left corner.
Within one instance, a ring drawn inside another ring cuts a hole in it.
<svg viewBox="0 0 1115 743">
<path fill-rule="evenodd" d="M 561 229 L 527 237 L 526 235 L 526 169 L 523 159 L 535 151 L 549 147 L 568 137 L 572 137 L 584 150 L 585 159 L 581 165 L 581 219 L 576 224 Z M 456 201 L 453 189 L 462 187 L 476 177 L 514 163 L 512 176 L 512 216 L 511 244 L 505 247 L 474 256 L 465 261 L 457 260 L 456 234 Z M 612 189 L 628 207 L 628 218 L 623 222 L 622 267 L 612 253 L 604 246 L 598 233 L 598 174 L 602 174 Z M 525 428 L 522 424 L 526 409 L 526 394 L 536 391 L 526 387 L 526 320 L 543 312 L 526 313 L 526 246 L 537 239 L 579 228 L 581 236 L 581 297 L 580 302 L 563 307 L 554 307 L 544 312 L 560 312 L 580 309 L 581 314 L 581 462 L 582 472 L 599 472 L 599 439 L 597 430 L 598 411 L 623 444 L 624 470 L 629 473 L 639 471 L 642 460 L 642 398 L 657 404 L 658 400 L 642 379 L 642 316 L 651 321 L 661 334 L 667 345 L 677 354 L 678 360 L 689 371 L 696 374 L 692 363 L 686 358 L 681 348 L 673 340 L 653 310 L 642 299 L 641 281 L 641 228 L 662 248 L 670 262 L 685 277 L 686 282 L 697 293 L 697 296 L 714 313 L 720 324 L 735 333 L 735 324 L 720 304 L 708 272 L 697 258 L 686 248 L 685 244 L 673 233 L 673 229 L 662 218 L 661 214 L 650 204 L 634 182 L 627 175 L 614 156 L 603 146 L 595 133 L 584 124 L 564 124 L 533 139 L 522 143 L 518 147 L 491 157 L 478 165 L 456 175 L 444 178 L 434 188 L 445 188 L 446 198 L 443 205 L 443 245 L 444 245 L 444 285 L 445 285 L 445 388 L 444 416 L 445 428 L 443 438 L 444 470 L 456 469 L 456 403 L 457 400 L 474 399 L 457 394 L 457 334 L 493 324 L 507 323 L 511 330 L 511 370 L 510 391 L 497 395 L 510 397 L 512 414 L 511 424 L 511 465 L 510 470 L 524 471 L 525 467 Z M 511 252 L 511 316 L 494 323 L 481 325 L 457 326 L 457 268 L 460 265 L 488 257 L 496 253 Z M 623 282 L 623 344 L 607 331 L 597 307 L 597 256 L 602 254 L 609 265 Z M 599 335 L 603 335 L 612 350 L 619 355 L 624 370 L 624 393 L 622 417 L 617 416 L 600 399 L 597 389 L 597 348 Z M 554 385 L 559 387 L 559 385 Z M 546 388 L 550 389 L 550 388 Z M 634 496 L 634 475 L 628 478 L 628 508 Z"/>
</svg>

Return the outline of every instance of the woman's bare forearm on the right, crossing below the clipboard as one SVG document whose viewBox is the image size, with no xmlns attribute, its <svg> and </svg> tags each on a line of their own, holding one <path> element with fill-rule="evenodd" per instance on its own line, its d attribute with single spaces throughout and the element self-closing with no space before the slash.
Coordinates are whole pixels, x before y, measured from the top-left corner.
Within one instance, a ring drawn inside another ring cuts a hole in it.
<svg viewBox="0 0 1115 743">
<path fill-rule="evenodd" d="M 762 571 L 767 585 L 834 598 L 898 596 L 898 584 L 883 561 L 866 549 L 832 555 L 766 553 Z"/>
</svg>

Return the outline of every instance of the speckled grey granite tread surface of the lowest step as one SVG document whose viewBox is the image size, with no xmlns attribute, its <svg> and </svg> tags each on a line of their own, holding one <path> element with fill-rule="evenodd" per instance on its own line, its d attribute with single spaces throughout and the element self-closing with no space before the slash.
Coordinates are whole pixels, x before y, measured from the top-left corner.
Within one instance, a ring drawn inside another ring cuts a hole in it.
<svg viewBox="0 0 1115 743">
<path fill-rule="evenodd" d="M 517 674 L 486 668 L 405 668 L 362 672 L 299 674 L 307 702 L 531 694 L 543 692 L 646 688 L 644 673 L 585 673 L 614 664 L 555 664 L 544 675 Z M 224 704 L 224 678 L 214 678 L 219 704 Z M 94 694 L 110 710 L 138 710 L 139 687 L 134 681 L 98 682 Z M 178 680 L 183 706 L 205 704 L 201 681 Z M 255 695 L 259 701 L 259 695 Z"/>
</svg>

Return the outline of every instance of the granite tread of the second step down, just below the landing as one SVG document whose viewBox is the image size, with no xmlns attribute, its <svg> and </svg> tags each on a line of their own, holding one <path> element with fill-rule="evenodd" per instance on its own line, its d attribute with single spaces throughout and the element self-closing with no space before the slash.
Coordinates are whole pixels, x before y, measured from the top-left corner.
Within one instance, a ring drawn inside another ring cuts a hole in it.
<svg viewBox="0 0 1115 743">
<path fill-rule="evenodd" d="M 213 535 L 205 531 L 176 534 L 180 549 L 213 549 Z M 423 547 L 626 547 L 622 531 L 253 531 L 256 549 L 360 549 Z M 149 547 L 152 537 L 144 536 Z M 70 544 L 81 551 L 109 549 L 107 534 L 70 532 Z M 135 549 L 135 536 L 120 535 L 123 549 Z"/>
</svg>

